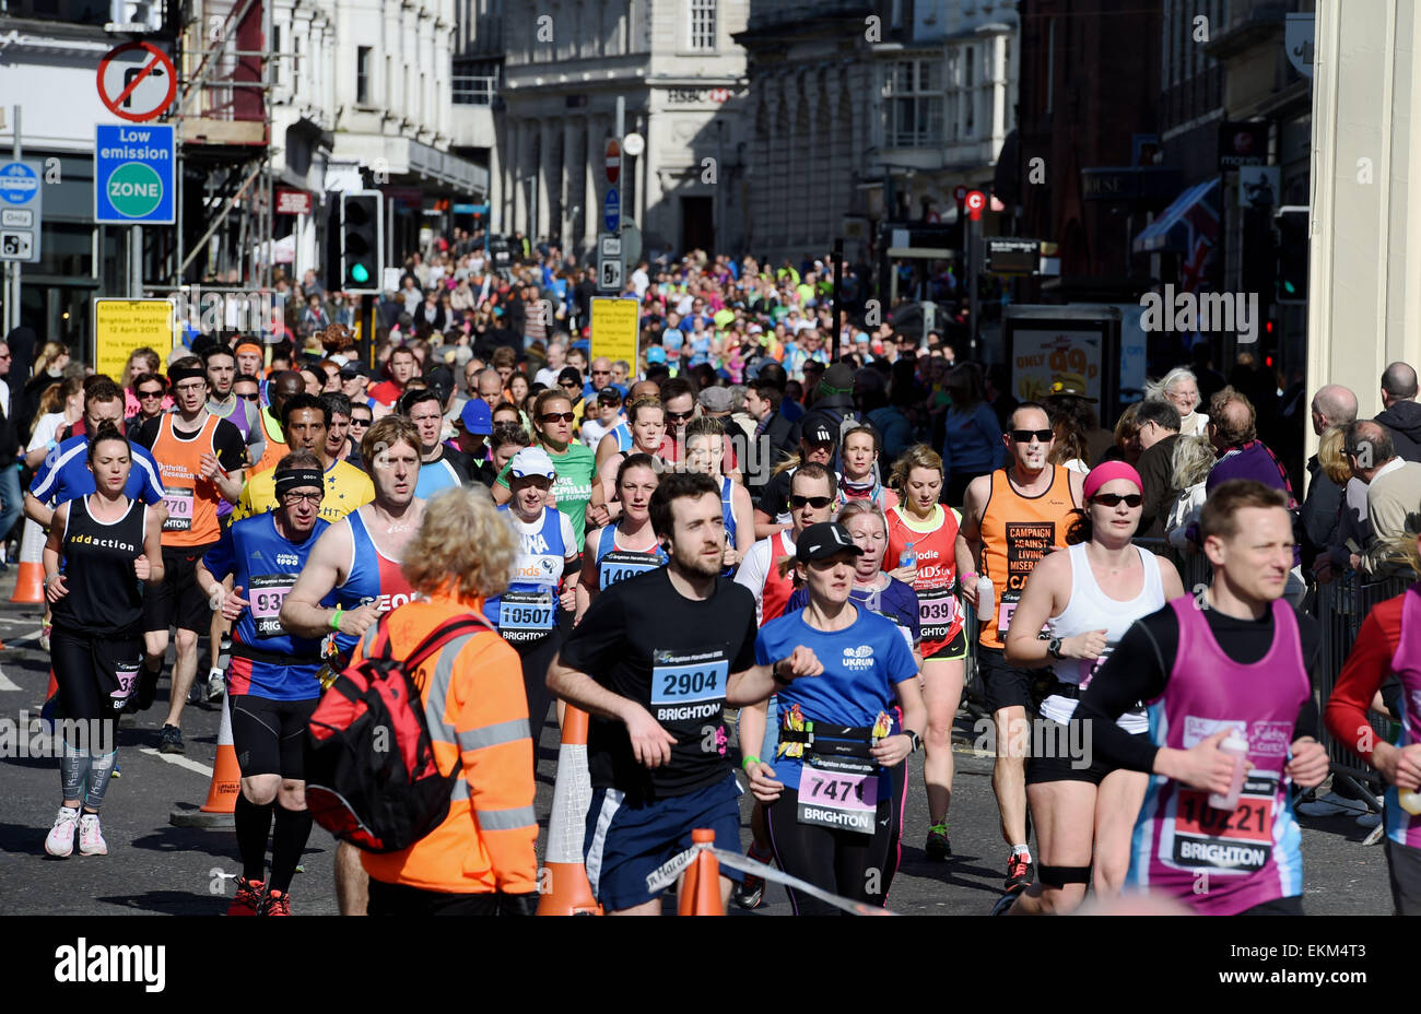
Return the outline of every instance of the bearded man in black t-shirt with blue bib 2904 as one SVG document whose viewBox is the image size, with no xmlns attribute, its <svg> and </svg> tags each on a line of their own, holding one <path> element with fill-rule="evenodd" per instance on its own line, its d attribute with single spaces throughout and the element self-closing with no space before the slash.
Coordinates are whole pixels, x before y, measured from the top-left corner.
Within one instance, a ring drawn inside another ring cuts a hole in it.
<svg viewBox="0 0 1421 1014">
<path fill-rule="evenodd" d="M 558 697 L 593 716 L 587 879 L 603 907 L 620 915 L 659 915 L 647 875 L 688 849 L 695 828 L 713 828 L 716 848 L 739 851 L 725 704 L 757 703 L 776 685 L 823 672 L 807 648 L 755 665 L 755 599 L 720 577 L 725 518 L 715 480 L 662 477 L 651 527 L 668 567 L 598 595 L 547 673 Z M 730 896 L 725 875 L 720 896 Z"/>
</svg>

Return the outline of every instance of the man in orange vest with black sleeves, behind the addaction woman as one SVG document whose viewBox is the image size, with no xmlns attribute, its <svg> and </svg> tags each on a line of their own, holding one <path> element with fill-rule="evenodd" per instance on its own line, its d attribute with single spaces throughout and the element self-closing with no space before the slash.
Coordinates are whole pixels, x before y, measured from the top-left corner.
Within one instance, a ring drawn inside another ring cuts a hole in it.
<svg viewBox="0 0 1421 1014">
<path fill-rule="evenodd" d="M 138 709 L 153 703 L 168 631 L 178 628 L 178 660 L 158 748 L 183 753 L 182 709 L 198 675 L 198 632 L 212 623 L 212 604 L 198 587 L 198 561 L 222 535 L 217 500 L 236 503 L 247 447 L 242 430 L 207 412 L 207 375 L 198 356 L 185 356 L 168 369 L 173 412 L 145 422 L 134 443 L 152 452 L 163 481 L 163 582 L 144 598 L 144 672 Z"/>
</svg>

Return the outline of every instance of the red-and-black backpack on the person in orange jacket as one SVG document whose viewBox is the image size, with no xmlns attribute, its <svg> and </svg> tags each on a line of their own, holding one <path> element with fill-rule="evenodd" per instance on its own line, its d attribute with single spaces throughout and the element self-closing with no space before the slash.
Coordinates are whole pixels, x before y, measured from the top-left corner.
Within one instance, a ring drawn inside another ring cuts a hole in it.
<svg viewBox="0 0 1421 1014">
<path fill-rule="evenodd" d="M 439 771 L 412 673 L 476 631 L 493 628 L 458 616 L 396 659 L 379 621 L 369 653 L 335 677 L 308 723 L 306 805 L 317 824 L 367 852 L 398 852 L 443 822 L 462 764 Z"/>
</svg>

